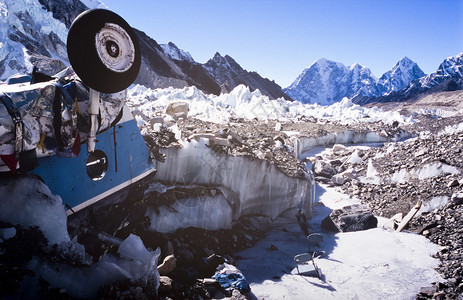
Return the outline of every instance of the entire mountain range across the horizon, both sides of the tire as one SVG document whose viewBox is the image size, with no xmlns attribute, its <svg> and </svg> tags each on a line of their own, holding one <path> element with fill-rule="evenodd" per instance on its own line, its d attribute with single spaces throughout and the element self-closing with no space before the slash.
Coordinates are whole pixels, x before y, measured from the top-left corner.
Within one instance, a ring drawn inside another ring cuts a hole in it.
<svg viewBox="0 0 463 300">
<path fill-rule="evenodd" d="M 52 75 L 69 65 L 66 38 L 72 20 L 98 0 L 0 0 L 0 80 L 31 73 L 37 66 Z M 50 14 L 51 13 L 51 14 Z M 218 95 L 244 84 L 270 99 L 283 97 L 303 103 L 329 105 L 348 97 L 355 103 L 403 101 L 423 91 L 463 89 L 462 54 L 447 58 L 435 73 L 425 75 L 418 65 L 402 58 L 379 79 L 359 64 L 350 67 L 319 59 L 287 88 L 243 69 L 232 57 L 216 53 L 205 64 L 196 62 L 175 44 L 158 44 L 136 30 L 142 65 L 135 83 L 150 88 L 196 86 Z"/>
</svg>

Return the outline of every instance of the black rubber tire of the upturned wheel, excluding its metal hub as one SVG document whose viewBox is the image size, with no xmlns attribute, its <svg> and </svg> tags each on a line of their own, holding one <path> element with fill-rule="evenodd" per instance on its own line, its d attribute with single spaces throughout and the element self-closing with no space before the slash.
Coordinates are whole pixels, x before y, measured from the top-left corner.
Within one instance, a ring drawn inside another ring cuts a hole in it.
<svg viewBox="0 0 463 300">
<path fill-rule="evenodd" d="M 108 69 L 98 56 L 95 36 L 106 23 L 122 27 L 134 45 L 134 63 L 124 72 Z M 102 93 L 117 93 L 128 88 L 140 70 L 140 44 L 135 32 L 124 19 L 109 10 L 91 9 L 77 16 L 69 29 L 67 51 L 77 76 L 89 87 Z"/>
</svg>

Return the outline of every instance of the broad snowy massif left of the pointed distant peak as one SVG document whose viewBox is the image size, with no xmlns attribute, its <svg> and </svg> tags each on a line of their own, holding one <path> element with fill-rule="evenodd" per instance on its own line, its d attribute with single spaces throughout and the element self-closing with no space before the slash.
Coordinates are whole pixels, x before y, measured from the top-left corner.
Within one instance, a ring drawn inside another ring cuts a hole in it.
<svg viewBox="0 0 463 300">
<path fill-rule="evenodd" d="M 344 97 L 376 93 L 376 79 L 359 64 L 346 67 L 322 58 L 306 68 L 284 92 L 303 103 L 329 105 Z"/>
</svg>

